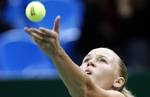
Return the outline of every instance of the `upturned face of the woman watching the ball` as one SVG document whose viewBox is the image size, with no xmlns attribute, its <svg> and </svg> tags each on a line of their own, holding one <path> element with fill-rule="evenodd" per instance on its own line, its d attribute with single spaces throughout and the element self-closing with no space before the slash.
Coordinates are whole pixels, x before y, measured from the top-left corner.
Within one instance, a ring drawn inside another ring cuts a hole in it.
<svg viewBox="0 0 150 97">
<path fill-rule="evenodd" d="M 98 48 L 85 56 L 80 66 L 96 85 L 103 89 L 111 89 L 115 78 L 119 76 L 119 57 L 107 48 Z"/>
</svg>

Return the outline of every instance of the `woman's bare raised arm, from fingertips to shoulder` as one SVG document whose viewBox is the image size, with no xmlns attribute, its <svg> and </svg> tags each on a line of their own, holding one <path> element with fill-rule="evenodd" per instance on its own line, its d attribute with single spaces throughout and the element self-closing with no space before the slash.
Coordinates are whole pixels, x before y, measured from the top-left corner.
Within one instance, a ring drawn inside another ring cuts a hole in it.
<svg viewBox="0 0 150 97">
<path fill-rule="evenodd" d="M 99 88 L 94 84 L 91 77 L 82 71 L 65 53 L 59 42 L 59 20 L 60 17 L 56 17 L 52 30 L 25 28 L 25 31 L 52 59 L 70 95 L 72 97 L 122 97 Z"/>
</svg>

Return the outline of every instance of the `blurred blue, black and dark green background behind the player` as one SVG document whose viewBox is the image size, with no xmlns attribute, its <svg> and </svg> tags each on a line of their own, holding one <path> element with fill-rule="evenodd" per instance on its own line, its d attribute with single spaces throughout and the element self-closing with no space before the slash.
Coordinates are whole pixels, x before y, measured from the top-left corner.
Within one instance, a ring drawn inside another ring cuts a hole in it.
<svg viewBox="0 0 150 97">
<path fill-rule="evenodd" d="M 0 97 L 70 97 L 51 60 L 23 30 L 52 28 L 57 15 L 61 45 L 74 62 L 80 65 L 94 48 L 113 49 L 127 65 L 128 89 L 150 97 L 149 0 L 36 0 L 47 11 L 38 23 L 25 16 L 31 1 L 0 0 Z"/>
</svg>

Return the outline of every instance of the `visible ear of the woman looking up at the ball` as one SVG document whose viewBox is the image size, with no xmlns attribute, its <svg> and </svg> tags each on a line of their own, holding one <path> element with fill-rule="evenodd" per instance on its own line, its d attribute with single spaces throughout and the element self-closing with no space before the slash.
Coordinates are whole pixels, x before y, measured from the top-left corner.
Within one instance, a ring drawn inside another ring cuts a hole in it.
<svg viewBox="0 0 150 97">
<path fill-rule="evenodd" d="M 114 80 L 113 87 L 115 89 L 120 89 L 125 84 L 125 79 L 123 77 L 118 77 Z"/>
</svg>

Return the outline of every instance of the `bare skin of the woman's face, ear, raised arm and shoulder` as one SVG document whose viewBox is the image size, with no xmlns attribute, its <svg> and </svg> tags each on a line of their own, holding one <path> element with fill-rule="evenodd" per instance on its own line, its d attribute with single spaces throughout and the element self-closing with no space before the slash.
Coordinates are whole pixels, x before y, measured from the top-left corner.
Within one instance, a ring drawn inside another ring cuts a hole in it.
<svg viewBox="0 0 150 97">
<path fill-rule="evenodd" d="M 59 41 L 59 20 L 57 16 L 52 30 L 47 28 L 25 28 L 55 64 L 60 78 L 72 97 L 125 97 L 113 90 L 123 80 L 118 75 L 119 57 L 111 50 L 97 48 L 88 53 L 79 67 L 65 53 Z M 122 83 L 121 83 L 122 82 Z"/>
</svg>

